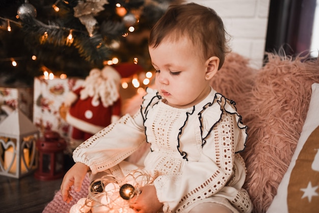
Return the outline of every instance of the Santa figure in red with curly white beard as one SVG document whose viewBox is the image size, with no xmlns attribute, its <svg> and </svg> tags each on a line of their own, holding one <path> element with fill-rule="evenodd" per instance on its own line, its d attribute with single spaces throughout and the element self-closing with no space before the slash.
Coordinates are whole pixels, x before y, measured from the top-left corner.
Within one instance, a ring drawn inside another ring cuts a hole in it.
<svg viewBox="0 0 319 213">
<path fill-rule="evenodd" d="M 83 85 L 66 97 L 66 121 L 73 127 L 71 138 L 83 142 L 119 119 L 121 75 L 111 66 L 94 68 Z"/>
</svg>

